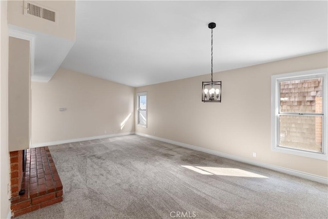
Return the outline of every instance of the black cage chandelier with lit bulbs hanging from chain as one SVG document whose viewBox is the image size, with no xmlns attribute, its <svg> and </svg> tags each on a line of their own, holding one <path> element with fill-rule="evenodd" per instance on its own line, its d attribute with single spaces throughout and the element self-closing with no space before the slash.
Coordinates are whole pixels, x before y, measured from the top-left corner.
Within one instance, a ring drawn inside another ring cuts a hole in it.
<svg viewBox="0 0 328 219">
<path fill-rule="evenodd" d="M 202 102 L 221 102 L 221 82 L 213 82 L 213 28 L 216 27 L 215 23 L 210 23 L 209 28 L 212 29 L 212 41 L 211 41 L 211 81 L 202 83 Z"/>
</svg>

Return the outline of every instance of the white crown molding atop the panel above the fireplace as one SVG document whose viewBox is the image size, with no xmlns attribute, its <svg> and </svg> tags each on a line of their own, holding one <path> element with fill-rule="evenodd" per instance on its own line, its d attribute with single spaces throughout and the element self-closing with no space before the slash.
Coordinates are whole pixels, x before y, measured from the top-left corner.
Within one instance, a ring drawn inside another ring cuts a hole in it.
<svg viewBox="0 0 328 219">
<path fill-rule="evenodd" d="M 31 66 L 31 76 L 33 76 L 34 60 L 35 60 L 35 35 L 16 30 L 15 26 L 13 25 L 8 25 L 8 27 L 9 27 L 9 36 L 30 41 L 30 66 Z"/>
</svg>

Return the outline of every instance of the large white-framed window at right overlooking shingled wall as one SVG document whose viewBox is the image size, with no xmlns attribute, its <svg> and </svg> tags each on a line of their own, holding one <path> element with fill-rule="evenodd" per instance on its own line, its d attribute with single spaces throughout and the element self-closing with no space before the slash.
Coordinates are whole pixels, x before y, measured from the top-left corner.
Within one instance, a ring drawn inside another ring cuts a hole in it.
<svg viewBox="0 0 328 219">
<path fill-rule="evenodd" d="M 272 149 L 327 160 L 327 69 L 272 76 Z"/>
</svg>

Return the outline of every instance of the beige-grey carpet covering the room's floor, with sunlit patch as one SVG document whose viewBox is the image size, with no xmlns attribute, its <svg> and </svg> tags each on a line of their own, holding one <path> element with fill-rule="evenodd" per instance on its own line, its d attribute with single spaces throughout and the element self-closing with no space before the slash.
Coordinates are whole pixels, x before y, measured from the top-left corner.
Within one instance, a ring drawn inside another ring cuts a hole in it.
<svg viewBox="0 0 328 219">
<path fill-rule="evenodd" d="M 62 203 L 17 218 L 327 218 L 327 185 L 128 135 L 49 147 Z"/>
</svg>

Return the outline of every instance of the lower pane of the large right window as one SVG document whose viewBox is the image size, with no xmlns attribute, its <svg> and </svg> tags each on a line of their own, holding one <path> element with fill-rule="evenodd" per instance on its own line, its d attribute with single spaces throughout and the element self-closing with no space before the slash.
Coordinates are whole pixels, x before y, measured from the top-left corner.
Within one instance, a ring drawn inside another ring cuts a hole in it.
<svg viewBox="0 0 328 219">
<path fill-rule="evenodd" d="M 322 116 L 280 115 L 279 146 L 322 152 Z"/>
</svg>

